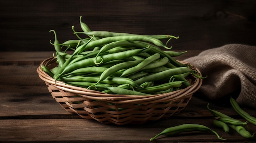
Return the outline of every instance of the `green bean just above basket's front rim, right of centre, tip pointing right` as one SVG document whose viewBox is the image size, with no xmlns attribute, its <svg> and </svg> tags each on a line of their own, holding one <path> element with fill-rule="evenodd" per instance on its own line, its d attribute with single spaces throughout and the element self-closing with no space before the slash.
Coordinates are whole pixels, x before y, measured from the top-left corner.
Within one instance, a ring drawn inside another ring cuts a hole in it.
<svg viewBox="0 0 256 143">
<path fill-rule="evenodd" d="M 139 88 L 137 91 L 143 92 L 143 93 L 153 94 L 155 92 L 168 90 L 170 88 L 180 87 L 183 82 L 184 81 L 173 81 L 173 82 L 168 82 L 168 83 L 160 84 L 160 85 L 157 85 L 157 86 L 151 86 L 151 87 L 146 87 L 146 88 Z M 186 82 L 188 82 L 188 81 L 186 81 Z"/>
</svg>

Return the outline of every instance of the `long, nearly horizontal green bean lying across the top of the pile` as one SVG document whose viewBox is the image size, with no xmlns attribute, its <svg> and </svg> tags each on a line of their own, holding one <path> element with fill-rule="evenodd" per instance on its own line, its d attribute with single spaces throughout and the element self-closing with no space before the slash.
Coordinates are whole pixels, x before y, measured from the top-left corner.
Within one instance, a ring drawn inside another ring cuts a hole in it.
<svg viewBox="0 0 256 143">
<path fill-rule="evenodd" d="M 113 36 L 124 36 L 124 35 L 138 35 L 138 34 L 130 34 L 130 33 L 119 33 L 119 32 L 109 32 L 109 31 L 90 31 L 90 32 L 77 32 L 77 33 L 83 33 L 85 35 L 95 35 L 98 37 L 113 37 Z M 152 37 L 155 39 L 169 39 L 169 38 L 175 38 L 178 39 L 179 37 L 175 37 L 173 35 L 143 35 L 147 37 Z"/>
</svg>

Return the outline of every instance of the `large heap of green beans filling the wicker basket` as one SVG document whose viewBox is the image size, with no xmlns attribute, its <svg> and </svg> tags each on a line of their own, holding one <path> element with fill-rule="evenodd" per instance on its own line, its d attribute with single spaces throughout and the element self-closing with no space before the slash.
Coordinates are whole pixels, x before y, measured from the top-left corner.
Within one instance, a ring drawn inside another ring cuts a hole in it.
<svg viewBox="0 0 256 143">
<path fill-rule="evenodd" d="M 91 31 L 81 17 L 80 26 L 79 32 L 72 26 L 78 39 L 63 43 L 50 30 L 58 66 L 51 70 L 42 66 L 42 70 L 56 81 L 109 94 L 153 95 L 191 86 L 189 76 L 204 78 L 174 59 L 186 51 L 174 52 L 166 46 L 179 37 Z"/>
</svg>

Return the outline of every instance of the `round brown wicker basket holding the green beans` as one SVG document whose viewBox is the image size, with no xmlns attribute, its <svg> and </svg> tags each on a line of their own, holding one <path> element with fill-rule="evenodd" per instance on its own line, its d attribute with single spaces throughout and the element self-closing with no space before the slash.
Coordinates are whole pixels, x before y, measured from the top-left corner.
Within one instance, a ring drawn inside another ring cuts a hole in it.
<svg viewBox="0 0 256 143">
<path fill-rule="evenodd" d="M 192 86 L 182 90 L 149 96 L 111 95 L 55 81 L 41 70 L 42 65 L 52 69 L 57 66 L 56 60 L 53 57 L 45 59 L 37 72 L 61 107 L 84 119 L 95 119 L 105 124 L 142 124 L 166 119 L 183 110 L 202 84 L 202 79 L 191 75 L 189 81 Z M 192 68 L 200 73 L 197 68 Z"/>
</svg>

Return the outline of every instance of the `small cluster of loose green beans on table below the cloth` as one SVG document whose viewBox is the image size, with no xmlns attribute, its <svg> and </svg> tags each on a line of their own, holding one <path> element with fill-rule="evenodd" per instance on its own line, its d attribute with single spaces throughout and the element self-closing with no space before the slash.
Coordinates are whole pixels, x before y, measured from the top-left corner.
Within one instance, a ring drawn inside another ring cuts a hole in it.
<svg viewBox="0 0 256 143">
<path fill-rule="evenodd" d="M 236 101 L 234 101 L 234 99 L 231 97 L 231 104 L 233 104 L 232 106 L 234 107 L 234 109 L 236 109 L 236 111 L 239 111 L 241 116 L 243 115 L 248 115 L 248 117 L 246 117 L 245 119 L 250 119 L 249 121 L 253 122 L 253 118 L 252 116 L 249 116 L 248 113 L 246 113 L 245 111 L 241 111 L 238 106 L 238 104 L 236 103 Z M 235 105 L 234 105 L 235 104 Z M 213 114 L 213 116 L 215 117 L 215 119 L 213 120 L 213 125 L 222 128 L 225 132 L 229 133 L 229 128 L 232 128 L 233 130 L 235 130 L 236 132 L 238 132 L 238 134 L 240 134 L 241 136 L 247 138 L 247 139 L 251 139 L 254 138 L 254 135 L 256 133 L 251 134 L 249 132 L 249 127 L 247 125 L 248 121 L 242 122 L 238 119 L 234 119 L 232 117 L 229 117 L 226 114 L 223 114 L 221 112 L 218 112 L 216 110 L 212 110 L 209 108 L 209 103 L 207 105 L 208 110 Z"/>
</svg>

